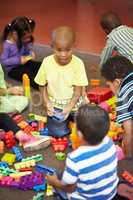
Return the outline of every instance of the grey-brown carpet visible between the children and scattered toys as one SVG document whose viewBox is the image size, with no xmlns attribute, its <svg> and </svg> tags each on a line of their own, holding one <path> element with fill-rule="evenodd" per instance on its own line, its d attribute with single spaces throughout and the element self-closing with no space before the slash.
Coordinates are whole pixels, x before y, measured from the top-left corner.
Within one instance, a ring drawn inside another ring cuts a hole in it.
<svg viewBox="0 0 133 200">
<path fill-rule="evenodd" d="M 39 52 L 39 49 L 37 49 Z M 50 53 L 50 49 L 48 47 L 45 47 L 40 50 L 40 53 L 42 53 L 44 56 L 48 55 Z M 94 57 L 89 56 L 87 54 L 81 54 L 80 52 L 76 52 L 76 54 L 81 57 L 86 66 L 87 76 L 88 79 L 94 77 L 94 78 L 100 78 L 99 70 L 97 67 L 98 59 L 94 59 Z M 41 56 L 40 56 L 41 57 Z M 8 82 L 12 83 L 13 85 L 17 85 L 18 83 L 13 80 L 8 80 Z M 29 105 L 28 109 L 23 113 L 25 118 L 27 117 L 28 113 L 35 113 L 39 115 L 44 114 L 44 109 L 42 104 L 39 104 L 39 98 L 36 93 L 34 93 L 32 103 Z M 70 149 L 69 149 L 70 150 Z M 47 149 L 43 149 L 40 151 L 34 151 L 30 153 L 25 153 L 25 157 L 30 155 L 36 155 L 42 153 L 44 156 L 44 161 L 42 163 L 47 166 L 55 167 L 57 171 L 63 170 L 64 168 L 64 162 L 57 161 L 55 158 L 55 154 L 51 147 L 48 147 Z M 118 167 L 118 173 L 121 177 L 121 174 L 124 170 L 129 171 L 131 174 L 133 174 L 133 160 L 126 161 L 122 160 L 119 162 Z M 11 188 L 0 188 L 0 200 L 32 200 L 33 196 L 35 195 L 35 192 L 33 191 L 22 191 L 22 190 L 15 190 Z M 56 200 L 55 197 L 45 197 L 46 200 Z M 133 200 L 133 199 L 132 199 Z"/>
</svg>

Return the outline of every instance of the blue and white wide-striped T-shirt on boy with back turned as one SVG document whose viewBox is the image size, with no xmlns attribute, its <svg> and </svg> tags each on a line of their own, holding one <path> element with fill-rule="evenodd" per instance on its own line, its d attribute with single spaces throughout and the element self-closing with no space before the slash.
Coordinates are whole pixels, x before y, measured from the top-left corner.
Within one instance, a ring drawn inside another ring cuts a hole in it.
<svg viewBox="0 0 133 200">
<path fill-rule="evenodd" d="M 106 136 L 97 146 L 81 146 L 70 153 L 63 173 L 64 184 L 75 184 L 70 200 L 110 200 L 117 190 L 117 158 L 113 142 Z"/>
</svg>

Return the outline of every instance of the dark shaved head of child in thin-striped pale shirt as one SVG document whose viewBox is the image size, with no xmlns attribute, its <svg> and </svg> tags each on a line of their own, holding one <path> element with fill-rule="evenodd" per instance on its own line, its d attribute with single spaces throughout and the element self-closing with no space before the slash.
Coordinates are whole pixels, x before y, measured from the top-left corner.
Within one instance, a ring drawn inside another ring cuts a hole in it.
<svg viewBox="0 0 133 200">
<path fill-rule="evenodd" d="M 103 29 L 107 29 L 109 32 L 114 28 L 121 26 L 121 20 L 119 16 L 114 12 L 107 12 L 101 17 L 101 26 Z"/>
</svg>

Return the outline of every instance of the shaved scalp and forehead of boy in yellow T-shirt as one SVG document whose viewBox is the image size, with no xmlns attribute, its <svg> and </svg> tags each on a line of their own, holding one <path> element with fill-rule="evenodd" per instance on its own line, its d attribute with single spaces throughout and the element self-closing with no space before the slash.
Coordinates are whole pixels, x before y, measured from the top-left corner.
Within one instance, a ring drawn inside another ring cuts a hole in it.
<svg viewBox="0 0 133 200">
<path fill-rule="evenodd" d="M 52 33 L 52 43 L 59 41 L 75 42 L 75 32 L 68 26 L 60 26 L 56 28 Z"/>
</svg>

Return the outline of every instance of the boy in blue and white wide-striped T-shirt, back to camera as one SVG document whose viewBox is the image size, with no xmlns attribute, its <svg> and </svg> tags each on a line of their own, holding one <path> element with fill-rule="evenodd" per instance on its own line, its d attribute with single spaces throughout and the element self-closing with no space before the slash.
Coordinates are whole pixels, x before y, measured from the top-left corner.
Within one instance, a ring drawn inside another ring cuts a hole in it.
<svg viewBox="0 0 133 200">
<path fill-rule="evenodd" d="M 80 147 L 68 154 L 62 180 L 56 175 L 48 175 L 48 182 L 67 192 L 62 199 L 116 199 L 116 148 L 106 136 L 109 130 L 107 112 L 85 104 L 76 114 L 76 124 Z"/>
</svg>

